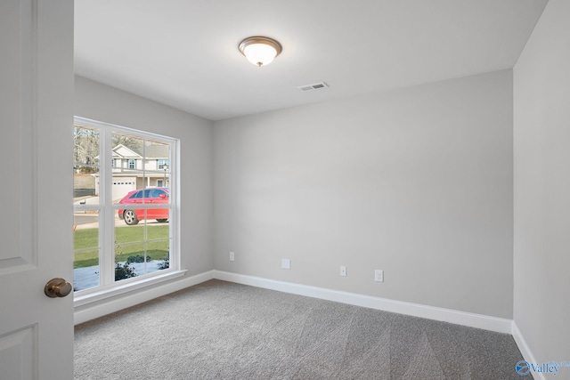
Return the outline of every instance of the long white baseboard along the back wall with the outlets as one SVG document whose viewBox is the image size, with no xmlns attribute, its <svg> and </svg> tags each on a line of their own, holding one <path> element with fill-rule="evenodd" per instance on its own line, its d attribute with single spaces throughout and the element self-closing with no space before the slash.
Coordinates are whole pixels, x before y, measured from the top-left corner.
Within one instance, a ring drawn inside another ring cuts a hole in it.
<svg viewBox="0 0 570 380">
<path fill-rule="evenodd" d="M 371 295 L 358 295 L 355 293 L 331 290 L 324 287 L 310 287 L 274 279 L 264 279 L 254 276 L 231 273 L 227 271 L 214 271 L 215 279 L 235 282 L 253 287 L 278 290 L 294 295 L 306 295 L 338 303 L 347 303 L 382 311 L 397 312 L 426 319 L 435 319 L 457 325 L 483 328 L 498 333 L 511 334 L 512 320 L 490 317 L 465 311 L 455 311 L 435 306 L 427 306 L 419 303 L 407 303 L 403 301 L 389 300 Z"/>
</svg>

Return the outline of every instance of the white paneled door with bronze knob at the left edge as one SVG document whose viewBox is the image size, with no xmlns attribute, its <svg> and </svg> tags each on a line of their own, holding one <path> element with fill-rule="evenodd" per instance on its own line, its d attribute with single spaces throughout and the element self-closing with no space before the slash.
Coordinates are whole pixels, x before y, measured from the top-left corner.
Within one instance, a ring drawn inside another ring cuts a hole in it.
<svg viewBox="0 0 570 380">
<path fill-rule="evenodd" d="M 0 0 L 0 378 L 73 378 L 72 0 Z"/>
</svg>

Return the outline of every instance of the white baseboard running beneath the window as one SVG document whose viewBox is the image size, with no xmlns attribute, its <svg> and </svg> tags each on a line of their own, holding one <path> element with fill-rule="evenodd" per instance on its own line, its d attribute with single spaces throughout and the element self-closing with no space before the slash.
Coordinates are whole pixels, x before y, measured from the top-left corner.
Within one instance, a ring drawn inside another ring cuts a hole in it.
<svg viewBox="0 0 570 380">
<path fill-rule="evenodd" d="M 102 317 L 112 312 L 120 311 L 139 303 L 151 301 L 162 295 L 168 295 L 186 287 L 192 287 L 208 279 L 214 278 L 214 271 L 206 271 L 195 276 L 183 277 L 175 281 L 159 284 L 152 287 L 143 287 L 117 297 L 110 297 L 102 301 L 77 306 L 73 315 L 74 324 L 78 325 L 88 320 Z"/>
</svg>

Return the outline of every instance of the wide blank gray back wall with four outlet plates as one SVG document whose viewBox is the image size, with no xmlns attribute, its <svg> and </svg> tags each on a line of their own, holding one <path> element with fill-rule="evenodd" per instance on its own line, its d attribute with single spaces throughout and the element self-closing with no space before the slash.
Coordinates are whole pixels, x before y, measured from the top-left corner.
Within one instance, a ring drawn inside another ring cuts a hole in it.
<svg viewBox="0 0 570 380">
<path fill-rule="evenodd" d="M 216 270 L 512 318 L 511 70 L 219 121 L 214 139 Z"/>
</svg>

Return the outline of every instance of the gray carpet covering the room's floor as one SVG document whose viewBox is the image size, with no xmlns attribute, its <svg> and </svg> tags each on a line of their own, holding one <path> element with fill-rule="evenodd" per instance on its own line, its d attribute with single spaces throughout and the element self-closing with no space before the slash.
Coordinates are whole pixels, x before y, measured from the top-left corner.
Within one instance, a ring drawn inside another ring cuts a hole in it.
<svg viewBox="0 0 570 380">
<path fill-rule="evenodd" d="M 506 334 L 220 280 L 75 333 L 76 379 L 502 380 L 518 360 Z"/>
</svg>

